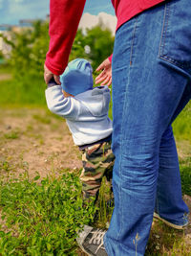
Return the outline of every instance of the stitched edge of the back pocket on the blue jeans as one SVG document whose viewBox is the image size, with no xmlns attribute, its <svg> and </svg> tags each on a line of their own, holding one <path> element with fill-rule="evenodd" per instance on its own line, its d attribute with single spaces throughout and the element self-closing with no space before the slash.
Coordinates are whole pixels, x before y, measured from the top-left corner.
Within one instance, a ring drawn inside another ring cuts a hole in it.
<svg viewBox="0 0 191 256">
<path fill-rule="evenodd" d="M 174 58 L 170 58 L 167 55 L 164 54 L 164 47 L 166 42 L 166 32 L 168 28 L 168 21 L 170 16 L 170 3 L 165 4 L 164 9 L 164 17 L 163 17 L 163 25 L 162 25 L 162 31 L 161 31 L 161 37 L 160 37 L 160 43 L 159 43 L 159 58 L 163 59 L 164 61 L 167 61 L 169 63 L 175 64 L 177 66 L 180 66 L 181 68 L 189 68 L 191 67 L 191 63 L 187 62 L 180 62 Z"/>
</svg>

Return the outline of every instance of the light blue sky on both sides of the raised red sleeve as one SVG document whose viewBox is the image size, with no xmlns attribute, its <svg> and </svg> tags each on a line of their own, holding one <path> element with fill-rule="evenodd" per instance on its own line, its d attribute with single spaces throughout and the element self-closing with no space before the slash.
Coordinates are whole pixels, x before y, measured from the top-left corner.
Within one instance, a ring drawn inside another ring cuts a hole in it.
<svg viewBox="0 0 191 256">
<path fill-rule="evenodd" d="M 71 0 L 72 1 L 72 0 Z M 0 0 L 0 25 L 18 25 L 20 19 L 45 19 L 49 13 L 49 0 Z M 87 0 L 84 13 L 115 15 L 110 0 Z"/>
</svg>

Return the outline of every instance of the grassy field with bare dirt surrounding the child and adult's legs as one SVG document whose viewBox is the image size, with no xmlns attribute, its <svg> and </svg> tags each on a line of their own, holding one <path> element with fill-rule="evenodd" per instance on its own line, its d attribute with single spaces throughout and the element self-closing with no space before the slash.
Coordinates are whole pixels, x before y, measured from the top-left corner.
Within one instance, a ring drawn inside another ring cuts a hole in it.
<svg viewBox="0 0 191 256">
<path fill-rule="evenodd" d="M 25 85 L 23 85 L 25 84 Z M 108 184 L 96 207 L 82 208 L 80 154 L 65 122 L 47 109 L 43 81 L 18 83 L 0 71 L 0 255 L 83 255 L 83 223 L 106 227 Z M 191 211 L 191 105 L 174 124 L 183 197 Z M 94 214 L 98 215 L 94 221 Z M 191 225 L 181 232 L 154 221 L 149 255 L 191 255 Z"/>
</svg>

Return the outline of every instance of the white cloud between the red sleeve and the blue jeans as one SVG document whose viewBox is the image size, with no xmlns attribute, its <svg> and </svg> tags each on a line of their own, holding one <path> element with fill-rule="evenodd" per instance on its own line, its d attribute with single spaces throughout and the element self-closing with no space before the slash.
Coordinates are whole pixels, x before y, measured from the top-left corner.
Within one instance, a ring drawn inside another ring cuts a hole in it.
<svg viewBox="0 0 191 256">
<path fill-rule="evenodd" d="M 79 22 L 79 28 L 85 31 L 86 29 L 95 27 L 100 21 L 115 35 L 117 17 L 106 12 L 99 12 L 98 15 L 92 15 L 88 12 L 84 13 Z"/>
</svg>

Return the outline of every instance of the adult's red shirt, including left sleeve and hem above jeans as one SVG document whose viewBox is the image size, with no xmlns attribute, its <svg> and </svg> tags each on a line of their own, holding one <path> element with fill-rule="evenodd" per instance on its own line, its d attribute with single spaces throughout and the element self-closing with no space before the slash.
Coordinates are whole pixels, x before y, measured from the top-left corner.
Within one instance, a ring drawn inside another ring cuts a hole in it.
<svg viewBox="0 0 191 256">
<path fill-rule="evenodd" d="M 117 29 L 127 20 L 165 0 L 111 0 L 117 15 Z M 71 53 L 74 36 L 86 0 L 51 0 L 51 37 L 45 64 L 55 75 L 65 70 Z"/>
</svg>

